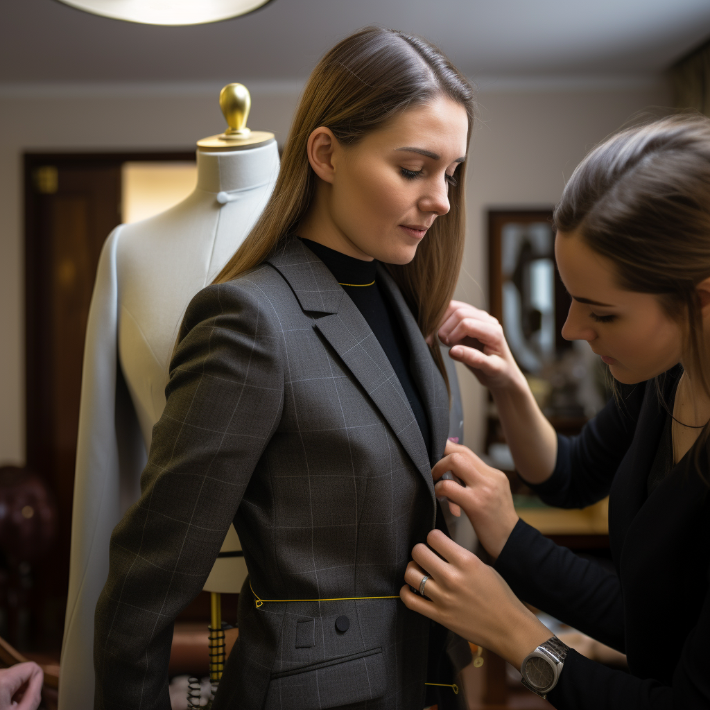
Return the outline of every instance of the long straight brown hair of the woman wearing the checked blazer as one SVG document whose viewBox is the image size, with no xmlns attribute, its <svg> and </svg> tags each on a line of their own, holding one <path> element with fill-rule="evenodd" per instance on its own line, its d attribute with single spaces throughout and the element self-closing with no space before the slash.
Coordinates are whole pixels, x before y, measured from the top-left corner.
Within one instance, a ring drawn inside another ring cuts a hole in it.
<svg viewBox="0 0 710 710">
<path fill-rule="evenodd" d="M 474 89 L 435 45 L 420 37 L 378 27 L 360 30 L 332 48 L 310 75 L 285 144 L 271 199 L 234 256 L 215 278 L 224 283 L 258 266 L 293 234 L 316 187 L 308 162 L 308 137 L 326 126 L 352 146 L 417 104 L 444 96 L 461 104 L 474 120 Z M 449 212 L 435 219 L 413 261 L 386 265 L 417 317 L 425 337 L 437 324 L 456 287 L 464 252 L 464 170 L 449 188 Z M 448 378 L 436 338 L 430 346 L 444 380 Z"/>
</svg>

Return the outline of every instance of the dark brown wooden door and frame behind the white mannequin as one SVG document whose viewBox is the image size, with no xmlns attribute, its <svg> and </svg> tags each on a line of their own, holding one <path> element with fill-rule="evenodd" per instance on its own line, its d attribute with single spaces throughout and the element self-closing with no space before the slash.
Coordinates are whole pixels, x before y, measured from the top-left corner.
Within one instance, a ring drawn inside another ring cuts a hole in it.
<svg viewBox="0 0 710 710">
<path fill-rule="evenodd" d="M 99 255 L 121 222 L 121 165 L 194 159 L 191 152 L 25 155 L 26 460 L 58 508 L 55 547 L 32 574 L 32 645 L 61 644 L 84 337 Z"/>
</svg>

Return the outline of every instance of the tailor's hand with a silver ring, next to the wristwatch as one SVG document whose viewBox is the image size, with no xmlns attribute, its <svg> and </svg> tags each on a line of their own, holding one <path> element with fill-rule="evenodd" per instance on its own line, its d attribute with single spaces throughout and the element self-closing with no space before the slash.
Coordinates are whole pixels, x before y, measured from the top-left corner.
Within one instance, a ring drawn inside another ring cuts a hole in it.
<svg viewBox="0 0 710 710">
<path fill-rule="evenodd" d="M 516 668 L 528 653 L 552 638 L 493 567 L 441 530 L 432 530 L 427 544 L 431 550 L 422 543 L 415 546 L 413 562 L 405 572 L 407 584 L 400 589 L 400 598 L 408 608 L 497 653 Z M 419 589 L 425 574 L 430 577 L 424 589 L 428 599 L 410 589 Z"/>
</svg>

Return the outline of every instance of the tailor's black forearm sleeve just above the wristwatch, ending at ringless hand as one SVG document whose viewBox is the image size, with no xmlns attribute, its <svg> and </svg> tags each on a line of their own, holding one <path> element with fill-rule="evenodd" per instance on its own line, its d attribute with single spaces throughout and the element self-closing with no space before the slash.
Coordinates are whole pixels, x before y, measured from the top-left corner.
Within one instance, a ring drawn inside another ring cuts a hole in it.
<svg viewBox="0 0 710 710">
<path fill-rule="evenodd" d="M 495 569 L 520 599 L 624 652 L 623 598 L 614 572 L 555 545 L 523 520 Z"/>
</svg>

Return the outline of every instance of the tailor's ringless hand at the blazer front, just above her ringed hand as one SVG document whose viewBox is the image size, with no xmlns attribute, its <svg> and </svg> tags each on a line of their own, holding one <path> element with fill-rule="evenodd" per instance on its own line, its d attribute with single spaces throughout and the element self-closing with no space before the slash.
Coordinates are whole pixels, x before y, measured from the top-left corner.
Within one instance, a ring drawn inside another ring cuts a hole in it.
<svg viewBox="0 0 710 710">
<path fill-rule="evenodd" d="M 464 485 L 442 480 L 446 471 L 458 476 Z M 508 476 L 484 464 L 468 447 L 449 441 L 444 458 L 432 469 L 432 477 L 437 497 L 446 496 L 449 506 L 461 506 L 488 555 L 498 557 L 518 523 Z"/>
</svg>

